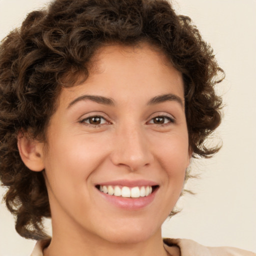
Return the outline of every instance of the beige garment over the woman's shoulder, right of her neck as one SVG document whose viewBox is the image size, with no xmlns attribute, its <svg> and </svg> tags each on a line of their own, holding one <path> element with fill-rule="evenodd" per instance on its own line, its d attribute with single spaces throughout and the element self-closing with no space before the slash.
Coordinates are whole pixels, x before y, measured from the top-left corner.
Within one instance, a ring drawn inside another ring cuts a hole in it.
<svg viewBox="0 0 256 256">
<path fill-rule="evenodd" d="M 180 256 L 256 256 L 256 253 L 233 247 L 207 247 L 190 239 L 163 239 L 165 249 L 180 248 Z"/>
</svg>

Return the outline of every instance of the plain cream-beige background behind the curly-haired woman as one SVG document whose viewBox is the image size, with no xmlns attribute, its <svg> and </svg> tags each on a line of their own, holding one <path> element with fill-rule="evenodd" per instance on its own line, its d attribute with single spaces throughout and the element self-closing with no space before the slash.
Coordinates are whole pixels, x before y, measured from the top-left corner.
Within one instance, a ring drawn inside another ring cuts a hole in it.
<svg viewBox="0 0 256 256">
<path fill-rule="evenodd" d="M 0 0 L 0 38 L 25 14 L 47 0 Z M 196 195 L 179 201 L 183 210 L 166 221 L 163 236 L 229 245 L 256 252 L 256 0 L 173 0 L 214 49 L 226 79 L 218 86 L 226 107 L 217 135 L 223 147 L 191 167 L 201 178 L 188 183 Z M 4 189 L 0 188 L 0 198 Z M 34 241 L 19 237 L 0 204 L 0 255 L 29 255 Z"/>
</svg>

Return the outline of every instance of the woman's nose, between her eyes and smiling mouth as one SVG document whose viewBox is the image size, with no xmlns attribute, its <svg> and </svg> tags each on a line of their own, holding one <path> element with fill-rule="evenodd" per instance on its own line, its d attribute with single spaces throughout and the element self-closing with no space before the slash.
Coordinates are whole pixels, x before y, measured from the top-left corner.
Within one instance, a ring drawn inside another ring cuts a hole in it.
<svg viewBox="0 0 256 256">
<path fill-rule="evenodd" d="M 113 145 L 111 161 L 115 165 L 136 171 L 153 161 L 145 131 L 137 125 L 129 125 L 116 132 Z"/>
</svg>

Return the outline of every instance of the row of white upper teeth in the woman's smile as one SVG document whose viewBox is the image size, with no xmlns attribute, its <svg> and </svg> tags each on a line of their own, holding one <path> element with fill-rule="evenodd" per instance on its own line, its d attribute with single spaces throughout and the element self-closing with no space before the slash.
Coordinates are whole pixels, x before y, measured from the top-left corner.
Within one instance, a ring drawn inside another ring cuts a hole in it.
<svg viewBox="0 0 256 256">
<path fill-rule="evenodd" d="M 139 196 L 147 196 L 152 192 L 152 186 L 106 186 L 100 185 L 99 190 L 103 193 L 115 195 L 115 196 L 122 196 L 122 197 L 133 197 L 137 198 Z"/>
</svg>

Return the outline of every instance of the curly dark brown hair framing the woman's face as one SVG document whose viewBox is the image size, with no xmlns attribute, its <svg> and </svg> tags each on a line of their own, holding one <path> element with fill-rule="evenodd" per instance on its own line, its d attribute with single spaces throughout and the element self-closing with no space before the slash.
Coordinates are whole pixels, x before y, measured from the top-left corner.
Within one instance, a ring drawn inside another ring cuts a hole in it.
<svg viewBox="0 0 256 256">
<path fill-rule="evenodd" d="M 189 17 L 177 15 L 167 0 L 55 0 L 30 12 L 0 44 L 0 180 L 23 237 L 46 236 L 42 219 L 50 208 L 43 174 L 24 165 L 17 135 L 44 139 L 60 89 L 85 80 L 95 50 L 112 42 L 156 45 L 183 76 L 193 157 L 219 149 L 205 139 L 221 120 L 214 85 L 223 70 Z"/>
</svg>

